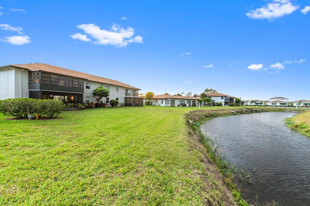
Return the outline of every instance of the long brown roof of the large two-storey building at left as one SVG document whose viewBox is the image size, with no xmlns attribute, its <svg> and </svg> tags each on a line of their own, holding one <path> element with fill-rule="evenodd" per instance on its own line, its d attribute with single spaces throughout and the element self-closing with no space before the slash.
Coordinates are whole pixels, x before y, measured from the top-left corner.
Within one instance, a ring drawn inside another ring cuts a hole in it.
<svg viewBox="0 0 310 206">
<path fill-rule="evenodd" d="M 86 74 L 86 73 L 82 73 L 82 72 L 78 72 L 78 71 L 74 71 L 74 70 L 64 69 L 62 67 L 57 67 L 57 66 L 53 66 L 53 65 L 49 65 L 49 64 L 44 64 L 44 63 L 12 64 L 9 66 L 20 67 L 20 68 L 28 69 L 30 71 L 38 71 L 39 70 L 39 71 L 50 72 L 50 73 L 54 73 L 54 74 L 62 74 L 62 75 L 67 75 L 67 76 L 73 76 L 73 77 L 83 78 L 83 79 L 87 79 L 87 80 L 94 81 L 94 82 L 105 83 L 105 84 L 116 85 L 116 86 L 121 86 L 121 87 L 125 87 L 125 88 L 132 88 L 132 89 L 139 89 L 140 90 L 140 88 L 136 88 L 136 87 L 124 84 L 122 82 L 113 80 L 113 79 L 108 79 L 108 78 L 104 78 L 101 76 L 95 76 L 92 74 Z"/>
</svg>

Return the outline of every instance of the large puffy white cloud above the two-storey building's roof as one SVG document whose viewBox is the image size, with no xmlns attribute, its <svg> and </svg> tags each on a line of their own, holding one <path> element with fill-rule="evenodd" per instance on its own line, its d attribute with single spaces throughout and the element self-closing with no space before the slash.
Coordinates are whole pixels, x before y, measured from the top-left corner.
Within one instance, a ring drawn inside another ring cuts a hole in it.
<svg viewBox="0 0 310 206">
<path fill-rule="evenodd" d="M 85 33 L 93 37 L 94 44 L 114 45 L 122 47 L 130 43 L 143 43 L 141 36 L 134 37 L 135 29 L 131 27 L 124 29 L 117 24 L 113 24 L 110 30 L 100 29 L 100 27 L 94 24 L 81 24 L 77 27 L 78 29 L 84 30 Z"/>
</svg>

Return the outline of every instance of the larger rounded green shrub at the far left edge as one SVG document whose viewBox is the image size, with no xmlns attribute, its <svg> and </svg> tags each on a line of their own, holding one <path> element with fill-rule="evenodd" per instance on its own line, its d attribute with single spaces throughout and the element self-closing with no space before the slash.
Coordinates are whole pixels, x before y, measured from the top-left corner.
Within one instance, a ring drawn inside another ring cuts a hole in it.
<svg viewBox="0 0 310 206">
<path fill-rule="evenodd" d="M 37 100 L 31 98 L 7 99 L 0 102 L 0 112 L 16 118 L 27 118 L 37 109 Z"/>
</svg>

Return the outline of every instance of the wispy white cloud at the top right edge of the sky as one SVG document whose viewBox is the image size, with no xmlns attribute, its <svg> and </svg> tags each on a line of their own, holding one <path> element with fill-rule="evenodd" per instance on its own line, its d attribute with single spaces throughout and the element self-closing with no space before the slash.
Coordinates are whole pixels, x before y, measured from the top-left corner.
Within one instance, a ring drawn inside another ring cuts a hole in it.
<svg viewBox="0 0 310 206">
<path fill-rule="evenodd" d="M 292 14 L 299 6 L 293 5 L 290 0 L 273 0 L 262 8 L 251 10 L 247 13 L 249 18 L 254 19 L 274 19 L 284 15 Z"/>
</svg>

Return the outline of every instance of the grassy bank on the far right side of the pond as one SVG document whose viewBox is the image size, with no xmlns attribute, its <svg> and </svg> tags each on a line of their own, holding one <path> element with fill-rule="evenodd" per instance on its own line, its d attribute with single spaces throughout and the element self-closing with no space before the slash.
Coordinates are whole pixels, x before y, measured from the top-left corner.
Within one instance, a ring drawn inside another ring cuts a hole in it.
<svg viewBox="0 0 310 206">
<path fill-rule="evenodd" d="M 310 137 L 310 111 L 287 118 L 286 121 L 298 121 L 296 123 L 287 124 L 289 128 Z"/>
</svg>

